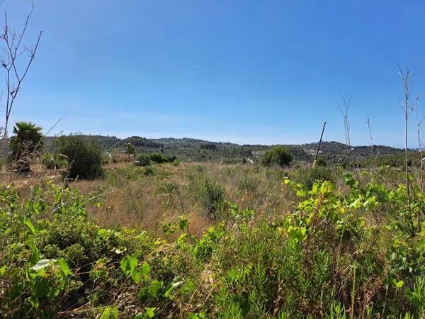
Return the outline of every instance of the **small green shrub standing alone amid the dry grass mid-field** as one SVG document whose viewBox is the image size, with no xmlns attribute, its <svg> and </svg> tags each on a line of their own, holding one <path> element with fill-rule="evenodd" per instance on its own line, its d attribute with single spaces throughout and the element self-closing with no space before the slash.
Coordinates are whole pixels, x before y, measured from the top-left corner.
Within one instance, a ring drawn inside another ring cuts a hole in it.
<svg viewBox="0 0 425 319">
<path fill-rule="evenodd" d="M 203 203 L 205 214 L 213 219 L 220 218 L 225 207 L 225 189 L 215 181 L 205 179 L 203 186 L 198 191 L 198 196 Z"/>
</svg>

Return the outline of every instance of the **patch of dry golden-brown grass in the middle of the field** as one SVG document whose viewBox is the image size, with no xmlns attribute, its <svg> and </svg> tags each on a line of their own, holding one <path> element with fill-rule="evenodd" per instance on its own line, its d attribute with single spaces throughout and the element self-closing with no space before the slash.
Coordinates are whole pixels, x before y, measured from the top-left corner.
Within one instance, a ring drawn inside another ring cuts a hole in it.
<svg viewBox="0 0 425 319">
<path fill-rule="evenodd" d="M 130 163 L 108 164 L 106 178 L 77 181 L 71 186 L 102 205 L 89 205 L 96 222 L 108 228 L 131 227 L 154 235 L 164 223 L 187 216 L 191 233 L 200 234 L 212 225 L 205 217 L 198 191 L 205 179 L 225 189 L 227 200 L 256 211 L 258 218 L 276 218 L 287 213 L 295 196 L 282 187 L 286 172 L 281 169 L 242 164 L 156 164 L 152 174 Z"/>
</svg>

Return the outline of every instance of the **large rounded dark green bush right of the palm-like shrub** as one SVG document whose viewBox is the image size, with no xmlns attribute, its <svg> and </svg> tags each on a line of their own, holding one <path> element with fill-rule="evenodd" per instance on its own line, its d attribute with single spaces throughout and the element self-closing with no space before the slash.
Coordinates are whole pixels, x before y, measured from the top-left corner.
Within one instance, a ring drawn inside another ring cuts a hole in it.
<svg viewBox="0 0 425 319">
<path fill-rule="evenodd" d="M 55 140 L 56 152 L 67 157 L 67 177 L 96 179 L 103 177 L 103 155 L 98 140 L 85 140 L 81 135 L 62 135 Z"/>
</svg>

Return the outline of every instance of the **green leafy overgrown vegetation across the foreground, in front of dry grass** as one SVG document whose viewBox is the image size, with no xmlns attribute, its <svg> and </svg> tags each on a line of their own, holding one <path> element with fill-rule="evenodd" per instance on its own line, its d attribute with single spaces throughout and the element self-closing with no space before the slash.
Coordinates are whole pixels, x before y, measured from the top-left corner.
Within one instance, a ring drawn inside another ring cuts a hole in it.
<svg viewBox="0 0 425 319">
<path fill-rule="evenodd" d="M 361 180 L 344 172 L 338 187 L 314 181 L 310 189 L 297 181 L 300 171 L 288 173 L 293 180 L 282 177 L 280 187 L 298 198 L 292 212 L 258 218 L 207 179 L 204 207 L 222 212 L 214 225 L 196 235 L 193 218 L 182 215 L 163 224 L 161 237 L 100 228 L 86 207 L 103 204 L 77 191 L 3 186 L 0 311 L 16 318 L 421 318 L 419 186 L 409 213 L 406 188 L 387 183 L 388 168 Z M 179 186 L 169 183 L 161 194 L 174 192 Z"/>
</svg>

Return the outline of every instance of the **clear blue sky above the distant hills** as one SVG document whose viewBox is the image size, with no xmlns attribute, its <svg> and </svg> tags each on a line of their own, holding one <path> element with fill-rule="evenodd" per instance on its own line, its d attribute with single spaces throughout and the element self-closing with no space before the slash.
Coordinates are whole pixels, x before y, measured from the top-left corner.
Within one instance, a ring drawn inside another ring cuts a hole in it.
<svg viewBox="0 0 425 319">
<path fill-rule="evenodd" d="M 20 27 L 28 1 L 0 3 Z M 375 143 L 402 146 L 397 62 L 424 94 L 424 16 L 424 1 L 40 0 L 13 121 L 251 144 L 316 141 L 327 121 L 325 139 L 344 141 L 340 90 L 354 145 L 369 115 Z"/>
</svg>

